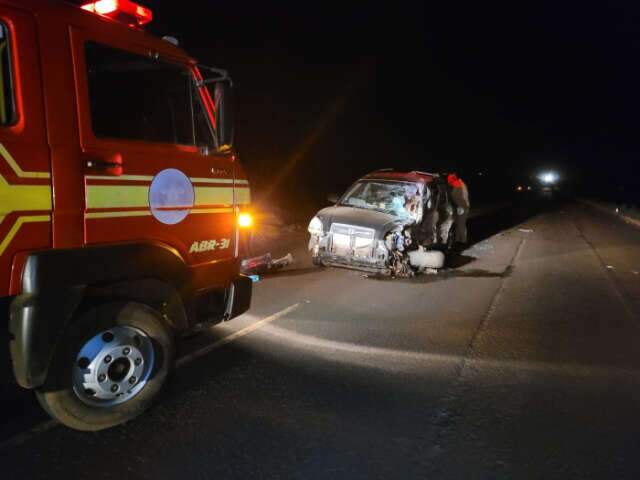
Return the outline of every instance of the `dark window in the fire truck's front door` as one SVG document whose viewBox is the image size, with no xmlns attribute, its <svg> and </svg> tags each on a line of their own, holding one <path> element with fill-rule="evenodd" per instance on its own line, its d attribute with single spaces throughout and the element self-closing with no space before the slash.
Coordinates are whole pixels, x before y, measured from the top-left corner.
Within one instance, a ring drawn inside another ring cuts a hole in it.
<svg viewBox="0 0 640 480">
<path fill-rule="evenodd" d="M 214 147 L 188 68 L 94 42 L 85 50 L 97 137 Z"/>
</svg>

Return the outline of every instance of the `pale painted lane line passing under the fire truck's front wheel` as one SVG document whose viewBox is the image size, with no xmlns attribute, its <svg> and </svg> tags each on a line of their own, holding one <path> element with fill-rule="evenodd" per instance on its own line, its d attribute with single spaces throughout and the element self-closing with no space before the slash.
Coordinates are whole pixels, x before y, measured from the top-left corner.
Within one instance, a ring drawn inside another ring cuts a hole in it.
<svg viewBox="0 0 640 480">
<path fill-rule="evenodd" d="M 268 323 L 274 322 L 279 318 L 282 318 L 288 315 L 289 313 L 297 310 L 299 307 L 300 307 L 300 303 L 291 305 L 290 307 L 287 307 L 284 310 L 281 310 L 277 313 L 274 313 L 273 315 L 263 318 L 262 320 L 258 320 L 257 322 L 252 323 L 251 325 L 243 328 L 242 330 L 238 330 L 237 332 L 232 333 L 231 335 L 227 335 L 226 337 L 221 338 L 220 340 L 210 345 L 207 345 L 201 348 L 200 350 L 192 352 L 189 355 L 186 355 L 184 357 L 181 357 L 176 361 L 176 368 L 183 367 L 187 365 L 189 362 L 192 362 L 193 360 L 195 360 L 196 358 L 202 357 L 212 352 L 213 350 L 217 350 L 218 348 L 228 345 L 229 343 L 234 342 L 239 338 L 249 335 L 251 332 L 267 325 Z M 39 423 L 38 425 L 30 428 L 29 430 L 18 433 L 17 435 L 14 435 L 13 437 L 9 437 L 7 440 L 1 442 L 0 451 L 18 447 L 26 443 L 30 439 L 40 435 L 41 433 L 48 432 L 49 430 L 51 430 L 52 428 L 58 425 L 59 423 L 56 420 L 47 420 L 45 422 Z"/>
</svg>

